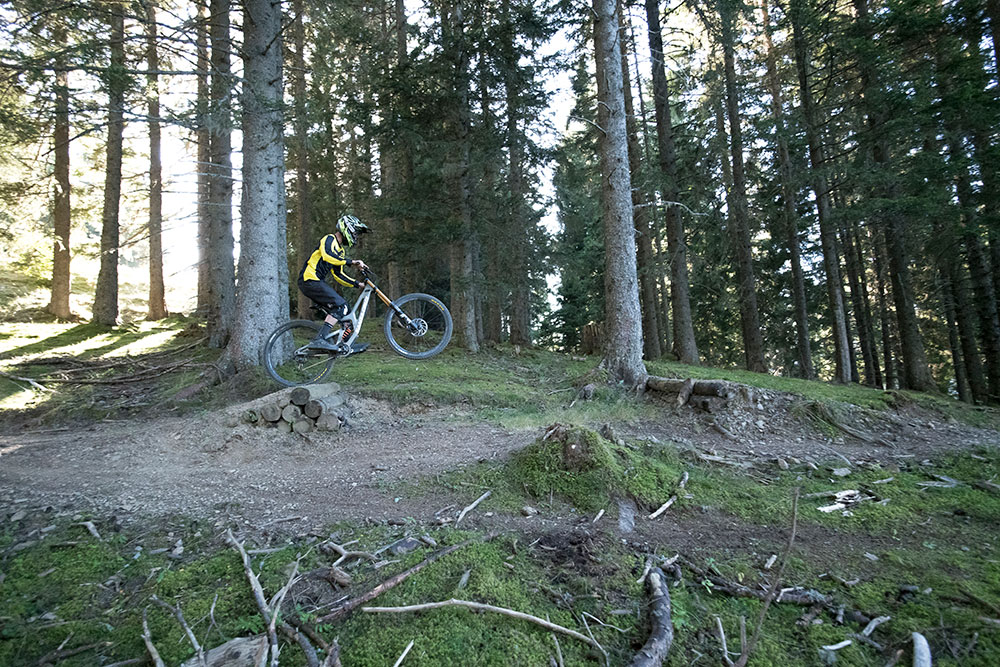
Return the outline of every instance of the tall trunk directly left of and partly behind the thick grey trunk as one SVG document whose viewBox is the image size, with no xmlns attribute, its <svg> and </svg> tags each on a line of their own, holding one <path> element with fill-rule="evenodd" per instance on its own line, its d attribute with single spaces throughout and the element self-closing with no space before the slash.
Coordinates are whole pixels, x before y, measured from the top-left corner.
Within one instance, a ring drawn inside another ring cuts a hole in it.
<svg viewBox="0 0 1000 667">
<path fill-rule="evenodd" d="M 212 42 L 211 139 L 208 206 L 209 238 L 208 344 L 225 347 L 236 308 L 233 265 L 233 163 L 230 131 L 232 68 L 229 60 L 229 0 L 211 0 L 209 34 Z"/>
</svg>

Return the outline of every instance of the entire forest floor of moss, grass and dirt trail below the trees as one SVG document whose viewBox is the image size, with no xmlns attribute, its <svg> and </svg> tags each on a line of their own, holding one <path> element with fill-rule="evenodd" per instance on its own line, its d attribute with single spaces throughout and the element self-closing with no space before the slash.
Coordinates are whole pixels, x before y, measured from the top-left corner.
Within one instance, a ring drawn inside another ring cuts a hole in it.
<svg viewBox="0 0 1000 667">
<path fill-rule="evenodd" d="M 307 577 L 286 605 L 338 638 L 345 665 L 391 664 L 410 640 L 406 664 L 537 665 L 557 653 L 565 664 L 600 664 L 570 637 L 557 650 L 527 623 L 461 610 L 391 625 L 360 612 L 323 622 L 342 599 L 468 539 L 477 541 L 375 603 L 457 597 L 571 628 L 589 618 L 610 663 L 626 664 L 649 632 L 638 580 L 647 563 L 670 567 L 680 554 L 668 664 L 719 664 L 716 616 L 736 659 L 739 619 L 753 634 L 757 598 L 787 560 L 782 587 L 827 606 L 773 604 L 750 664 L 881 665 L 901 651 L 909 659 L 914 631 L 936 664 L 1000 661 L 995 410 L 650 364 L 658 375 L 743 383 L 713 414 L 624 395 L 601 382 L 596 359 L 503 348 L 409 362 L 375 341 L 335 369 L 351 393 L 348 426 L 303 437 L 225 418 L 274 388 L 262 377 L 193 391 L 212 372 L 199 340 L 183 318 L 115 330 L 5 325 L 0 664 L 141 658 L 147 606 L 161 653 L 177 664 L 194 651 L 154 593 L 179 604 L 207 646 L 260 632 L 227 529 L 256 549 L 271 593 L 297 557 L 313 574 L 328 567 L 331 541 L 376 554 L 345 564 L 352 585 Z M 588 383 L 597 390 L 584 400 Z M 610 458 L 561 469 L 541 440 L 554 423 L 603 429 Z M 864 500 L 820 511 L 834 502 L 824 494 L 844 490 Z M 772 556 L 778 564 L 765 567 Z M 731 595 L 744 584 L 754 593 Z M 859 638 L 866 623 L 852 611 L 891 620 Z M 288 645 L 282 664 L 306 663 Z"/>
</svg>

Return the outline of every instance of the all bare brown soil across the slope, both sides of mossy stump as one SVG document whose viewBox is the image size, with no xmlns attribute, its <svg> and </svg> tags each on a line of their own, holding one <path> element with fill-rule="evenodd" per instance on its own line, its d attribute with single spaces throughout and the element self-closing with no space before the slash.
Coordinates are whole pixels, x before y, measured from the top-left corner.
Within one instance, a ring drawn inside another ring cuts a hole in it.
<svg viewBox="0 0 1000 667">
<path fill-rule="evenodd" d="M 997 442 L 997 433 L 927 415 L 890 415 L 875 422 L 860 414 L 852 426 L 884 440 L 851 437 L 829 441 L 788 409 L 787 397 L 762 394 L 732 405 L 725 414 L 663 408 L 655 422 L 619 426 L 623 437 L 673 441 L 727 460 L 774 469 L 775 459 L 816 463 L 891 461 L 933 456 L 941 451 Z M 22 430 L 0 436 L 0 507 L 54 506 L 122 520 L 171 515 L 236 520 L 255 527 L 302 531 L 337 521 L 430 522 L 441 508 L 461 508 L 479 489 L 433 494 L 400 491 L 398 482 L 433 477 L 477 461 L 505 457 L 539 435 L 477 422 L 452 410 L 416 410 L 353 399 L 350 427 L 307 437 L 274 429 L 226 425 L 225 414 L 153 417 L 99 422 L 82 428 Z M 725 424 L 735 439 L 712 422 Z M 510 527 L 547 530 L 575 523 L 578 516 L 486 517 L 474 512 L 470 525 L 504 522 Z M 609 529 L 613 519 L 604 519 Z M 630 539 L 695 546 L 703 536 L 730 534 L 748 546 L 746 535 L 724 517 L 686 517 L 666 532 Z M 551 524 L 551 525 L 550 525 Z M 548 528 L 546 528 L 548 526 Z"/>
</svg>

